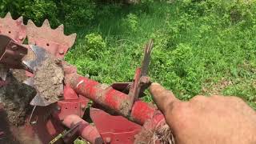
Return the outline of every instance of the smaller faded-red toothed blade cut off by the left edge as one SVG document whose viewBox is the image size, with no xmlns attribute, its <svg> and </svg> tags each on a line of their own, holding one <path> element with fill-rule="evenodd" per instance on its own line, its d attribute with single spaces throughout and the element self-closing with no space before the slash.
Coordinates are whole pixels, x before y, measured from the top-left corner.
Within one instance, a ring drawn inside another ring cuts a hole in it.
<svg viewBox="0 0 256 144">
<path fill-rule="evenodd" d="M 23 18 L 14 20 L 10 13 L 7 13 L 4 18 L 0 18 L 0 34 L 7 35 L 18 44 L 22 44 L 26 38 L 26 26 L 23 24 Z"/>
</svg>

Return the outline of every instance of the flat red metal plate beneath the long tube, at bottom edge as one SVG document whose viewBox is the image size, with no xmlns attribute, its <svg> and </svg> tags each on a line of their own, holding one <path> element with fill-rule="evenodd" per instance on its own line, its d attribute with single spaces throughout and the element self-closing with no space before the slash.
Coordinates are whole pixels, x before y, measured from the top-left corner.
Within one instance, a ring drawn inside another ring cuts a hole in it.
<svg viewBox="0 0 256 144">
<path fill-rule="evenodd" d="M 142 128 L 122 116 L 110 115 L 103 110 L 90 108 L 90 118 L 106 143 L 134 143 L 134 136 Z"/>
</svg>

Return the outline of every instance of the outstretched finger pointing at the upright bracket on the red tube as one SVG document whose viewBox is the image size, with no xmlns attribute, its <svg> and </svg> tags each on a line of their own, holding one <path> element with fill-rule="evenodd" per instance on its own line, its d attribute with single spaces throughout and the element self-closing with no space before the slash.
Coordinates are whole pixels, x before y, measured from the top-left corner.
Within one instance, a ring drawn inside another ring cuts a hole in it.
<svg viewBox="0 0 256 144">
<path fill-rule="evenodd" d="M 174 102 L 180 102 L 178 98 L 170 90 L 166 90 L 158 83 L 152 83 L 150 86 L 150 94 L 153 96 L 154 102 L 162 113 L 166 113 Z"/>
</svg>

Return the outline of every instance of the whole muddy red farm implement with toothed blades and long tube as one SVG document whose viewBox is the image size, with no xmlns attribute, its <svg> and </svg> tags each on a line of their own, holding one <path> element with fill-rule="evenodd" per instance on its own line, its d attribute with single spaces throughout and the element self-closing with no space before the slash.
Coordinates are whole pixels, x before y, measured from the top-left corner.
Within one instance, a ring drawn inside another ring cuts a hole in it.
<svg viewBox="0 0 256 144">
<path fill-rule="evenodd" d="M 76 38 L 63 29 L 52 30 L 47 20 L 37 27 L 10 14 L 0 18 L 0 143 L 73 143 L 79 136 L 90 143 L 166 143 L 152 137 L 166 125 L 163 114 L 138 98 L 150 86 L 153 41 L 133 82 L 106 86 L 63 60 Z"/>
</svg>

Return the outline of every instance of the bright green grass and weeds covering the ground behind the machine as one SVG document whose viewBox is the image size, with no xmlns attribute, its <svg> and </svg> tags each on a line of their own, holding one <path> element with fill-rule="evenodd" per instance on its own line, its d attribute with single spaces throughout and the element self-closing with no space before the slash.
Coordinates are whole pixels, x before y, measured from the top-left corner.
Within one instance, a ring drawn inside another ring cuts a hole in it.
<svg viewBox="0 0 256 144">
<path fill-rule="evenodd" d="M 254 2 L 109 4 L 77 32 L 66 60 L 99 82 L 126 82 L 154 38 L 150 77 L 187 100 L 196 94 L 236 95 L 256 108 Z M 151 101 L 146 96 L 146 101 Z"/>
</svg>

